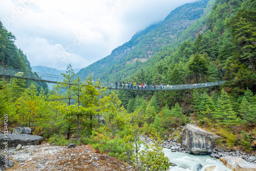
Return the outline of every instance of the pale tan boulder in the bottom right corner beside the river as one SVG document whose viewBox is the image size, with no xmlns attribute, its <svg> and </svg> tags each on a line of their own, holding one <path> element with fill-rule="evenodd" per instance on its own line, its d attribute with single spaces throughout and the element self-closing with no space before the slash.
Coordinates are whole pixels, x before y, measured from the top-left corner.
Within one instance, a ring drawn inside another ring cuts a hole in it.
<svg viewBox="0 0 256 171">
<path fill-rule="evenodd" d="M 244 159 L 241 159 L 240 157 L 225 156 L 225 157 L 221 157 L 220 161 L 222 161 L 231 170 L 236 170 L 236 171 L 256 170 L 256 163 L 247 162 Z"/>
</svg>

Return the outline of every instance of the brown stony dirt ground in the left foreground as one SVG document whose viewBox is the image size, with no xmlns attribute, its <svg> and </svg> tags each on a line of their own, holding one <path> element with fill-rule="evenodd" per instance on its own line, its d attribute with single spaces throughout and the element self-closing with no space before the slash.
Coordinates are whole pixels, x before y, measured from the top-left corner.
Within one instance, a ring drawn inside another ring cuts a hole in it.
<svg viewBox="0 0 256 171">
<path fill-rule="evenodd" d="M 8 171 L 136 170 L 131 165 L 119 161 L 118 158 L 96 153 L 90 145 L 74 148 L 48 143 L 23 146 L 19 151 L 10 149 L 9 159 L 14 161 L 14 166 L 6 169 Z"/>
</svg>

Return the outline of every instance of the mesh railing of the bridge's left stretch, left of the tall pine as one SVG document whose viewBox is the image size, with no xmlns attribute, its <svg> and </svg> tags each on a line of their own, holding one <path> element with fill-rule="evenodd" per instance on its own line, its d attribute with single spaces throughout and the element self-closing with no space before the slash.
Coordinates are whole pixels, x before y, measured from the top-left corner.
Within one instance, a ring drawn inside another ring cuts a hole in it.
<svg viewBox="0 0 256 171">
<path fill-rule="evenodd" d="M 37 76 L 33 72 L 26 72 L 19 69 L 12 69 L 12 68 L 5 68 L 0 67 L 0 74 L 5 76 L 13 76 L 13 77 L 25 77 L 30 79 L 41 79 L 41 80 L 48 80 L 48 81 L 63 81 L 63 76 L 61 75 L 54 75 L 54 74 L 46 74 L 46 73 L 40 73 L 36 72 Z"/>
</svg>

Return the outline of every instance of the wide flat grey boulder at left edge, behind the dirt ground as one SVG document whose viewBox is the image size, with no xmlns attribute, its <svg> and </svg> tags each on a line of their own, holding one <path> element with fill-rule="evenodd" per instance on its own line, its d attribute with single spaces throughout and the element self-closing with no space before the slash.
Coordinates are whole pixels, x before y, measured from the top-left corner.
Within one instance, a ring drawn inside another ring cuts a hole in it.
<svg viewBox="0 0 256 171">
<path fill-rule="evenodd" d="M 38 145 L 42 142 L 43 138 L 37 135 L 28 134 L 9 134 L 7 138 L 0 135 L 0 148 L 5 148 L 6 144 L 8 147 L 16 147 L 18 144 L 21 145 Z"/>
</svg>

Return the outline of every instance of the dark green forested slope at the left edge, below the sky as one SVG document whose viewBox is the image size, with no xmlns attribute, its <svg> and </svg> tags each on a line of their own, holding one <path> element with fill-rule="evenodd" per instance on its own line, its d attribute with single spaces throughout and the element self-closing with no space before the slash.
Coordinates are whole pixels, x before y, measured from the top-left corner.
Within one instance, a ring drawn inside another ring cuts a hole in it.
<svg viewBox="0 0 256 171">
<path fill-rule="evenodd" d="M 22 50 L 16 47 L 15 40 L 15 36 L 11 32 L 9 32 L 0 21 L 0 67 L 19 69 L 20 71 L 31 73 L 31 75 L 33 75 L 34 78 L 39 78 L 36 73 L 32 73 L 32 68 L 30 66 L 30 62 L 27 59 L 26 54 L 24 54 Z M 17 79 L 12 80 L 13 82 L 16 81 L 16 83 L 19 82 Z M 24 83 L 25 88 L 29 87 L 31 82 L 33 81 L 24 80 L 22 82 Z M 38 91 L 40 90 L 40 88 L 43 88 L 46 91 L 48 91 L 46 83 L 35 82 L 34 84 Z"/>
</svg>

